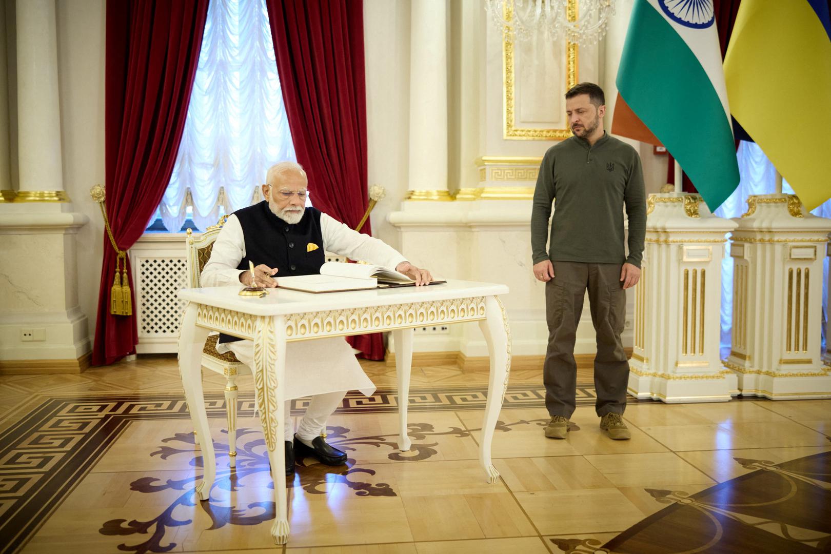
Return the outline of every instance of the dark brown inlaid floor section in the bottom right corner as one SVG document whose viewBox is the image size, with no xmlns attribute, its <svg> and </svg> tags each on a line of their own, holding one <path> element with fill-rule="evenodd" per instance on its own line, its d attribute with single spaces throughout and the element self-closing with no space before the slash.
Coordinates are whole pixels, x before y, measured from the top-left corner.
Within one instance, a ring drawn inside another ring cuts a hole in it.
<svg viewBox="0 0 831 554">
<path fill-rule="evenodd" d="M 622 532 L 600 552 L 831 552 L 831 453 L 785 463 L 735 462 L 755 471 L 692 495 L 647 489 L 657 502 L 671 506 Z"/>
</svg>

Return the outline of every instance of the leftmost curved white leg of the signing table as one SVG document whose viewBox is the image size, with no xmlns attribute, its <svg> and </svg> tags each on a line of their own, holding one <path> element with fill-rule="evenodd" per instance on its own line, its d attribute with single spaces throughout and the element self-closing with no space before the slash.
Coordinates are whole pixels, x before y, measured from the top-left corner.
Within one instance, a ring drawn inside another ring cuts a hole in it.
<svg viewBox="0 0 831 554">
<path fill-rule="evenodd" d="M 198 444 L 202 446 L 204 477 L 202 483 L 196 487 L 196 494 L 199 500 L 208 500 L 216 476 L 216 457 L 202 392 L 202 350 L 209 331 L 196 326 L 198 307 L 194 302 L 190 302 L 184 310 L 179 334 L 179 375 L 182 376 L 184 399 L 188 403 L 190 419 L 193 422 L 196 436 L 199 437 Z"/>
</svg>

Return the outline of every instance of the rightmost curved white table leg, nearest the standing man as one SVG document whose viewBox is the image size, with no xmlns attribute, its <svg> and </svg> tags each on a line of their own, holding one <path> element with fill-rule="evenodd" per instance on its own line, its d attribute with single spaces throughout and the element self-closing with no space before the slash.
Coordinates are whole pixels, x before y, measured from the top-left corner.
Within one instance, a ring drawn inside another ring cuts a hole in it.
<svg viewBox="0 0 831 554">
<path fill-rule="evenodd" d="M 494 429 L 502 399 L 508 387 L 508 375 L 511 366 L 511 335 L 508 317 L 499 297 L 485 298 L 486 319 L 479 321 L 484 340 L 488 343 L 490 355 L 490 375 L 488 379 L 488 402 L 484 408 L 482 422 L 482 443 L 479 444 L 479 463 L 487 475 L 489 483 L 495 483 L 499 472 L 490 461 L 490 446 L 494 439 Z"/>
</svg>

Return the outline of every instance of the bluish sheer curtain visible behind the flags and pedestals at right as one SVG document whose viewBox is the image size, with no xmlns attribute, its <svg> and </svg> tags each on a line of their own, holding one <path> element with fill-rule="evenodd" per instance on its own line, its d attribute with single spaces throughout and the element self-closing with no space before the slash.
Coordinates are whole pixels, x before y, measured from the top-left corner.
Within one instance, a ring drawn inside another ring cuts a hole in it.
<svg viewBox="0 0 831 554">
<path fill-rule="evenodd" d="M 740 141 L 736 151 L 739 160 L 739 174 L 741 177 L 739 188 L 735 189 L 729 199 L 715 210 L 720 218 L 738 218 L 747 211 L 747 197 L 750 194 L 773 194 L 776 191 L 776 169 L 770 163 L 765 152 L 755 142 Z M 787 181 L 783 179 L 782 192 L 794 194 Z M 831 218 L 831 200 L 811 211 L 822 218 Z M 721 357 L 726 358 L 730 353 L 730 329 L 733 315 L 733 258 L 730 257 L 730 243 L 727 243 L 725 258 L 721 262 Z M 828 298 L 829 259 L 825 257 L 823 277 L 823 347 L 828 337 L 825 336 L 825 321 L 828 314 L 825 312 Z"/>
</svg>

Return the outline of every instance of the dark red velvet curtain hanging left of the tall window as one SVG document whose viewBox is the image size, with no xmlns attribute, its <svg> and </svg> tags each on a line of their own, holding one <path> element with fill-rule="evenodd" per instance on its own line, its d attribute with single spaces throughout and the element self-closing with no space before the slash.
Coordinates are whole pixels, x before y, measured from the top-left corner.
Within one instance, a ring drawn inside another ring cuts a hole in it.
<svg viewBox="0 0 831 554">
<path fill-rule="evenodd" d="M 144 233 L 170 182 L 207 13 L 208 0 L 106 4 L 106 208 L 122 250 Z M 138 342 L 135 315 L 110 313 L 116 252 L 103 240 L 94 365 L 135 353 Z"/>
</svg>

